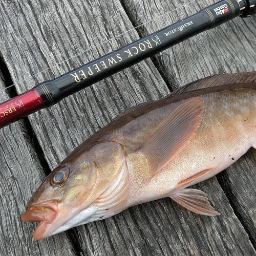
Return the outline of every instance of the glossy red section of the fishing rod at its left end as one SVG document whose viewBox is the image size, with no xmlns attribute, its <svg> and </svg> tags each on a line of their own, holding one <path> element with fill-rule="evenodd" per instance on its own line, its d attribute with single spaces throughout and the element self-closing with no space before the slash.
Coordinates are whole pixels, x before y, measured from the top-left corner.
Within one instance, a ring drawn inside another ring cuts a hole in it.
<svg viewBox="0 0 256 256">
<path fill-rule="evenodd" d="M 40 109 L 45 104 L 35 88 L 0 104 L 0 129 Z"/>
</svg>

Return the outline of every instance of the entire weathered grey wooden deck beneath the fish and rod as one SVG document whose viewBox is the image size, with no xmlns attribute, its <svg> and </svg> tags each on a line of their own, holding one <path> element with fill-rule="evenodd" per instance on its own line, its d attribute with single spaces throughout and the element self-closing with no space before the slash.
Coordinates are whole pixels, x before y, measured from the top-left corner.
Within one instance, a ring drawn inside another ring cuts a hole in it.
<svg viewBox="0 0 256 256">
<path fill-rule="evenodd" d="M 1 90 L 13 82 L 22 93 L 214 2 L 198 0 L 136 31 L 188 1 L 2 0 Z M 208 194 L 217 217 L 166 198 L 39 242 L 36 224 L 20 220 L 50 170 L 118 113 L 198 78 L 256 70 L 255 35 L 256 16 L 236 18 L 0 130 L 0 255 L 256 255 L 255 150 L 195 186 Z M 0 94 L 1 101 L 9 97 Z"/>
</svg>

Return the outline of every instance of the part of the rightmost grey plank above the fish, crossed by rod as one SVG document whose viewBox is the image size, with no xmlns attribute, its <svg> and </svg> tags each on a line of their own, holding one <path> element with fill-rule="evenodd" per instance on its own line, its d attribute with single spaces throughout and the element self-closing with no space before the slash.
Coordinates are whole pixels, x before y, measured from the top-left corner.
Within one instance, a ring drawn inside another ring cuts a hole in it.
<svg viewBox="0 0 256 256">
<path fill-rule="evenodd" d="M 188 2 L 145 1 L 142 7 L 139 0 L 122 0 L 135 27 L 156 18 L 154 22 L 137 29 L 140 36 L 162 29 L 218 1 L 199 0 L 187 4 Z M 167 10 L 175 11 L 163 15 Z M 163 16 L 157 18 L 160 15 Z M 154 63 L 172 89 L 209 75 L 254 71 L 255 41 L 251 38 L 256 30 L 255 20 L 255 16 L 232 19 L 155 55 Z"/>
</svg>

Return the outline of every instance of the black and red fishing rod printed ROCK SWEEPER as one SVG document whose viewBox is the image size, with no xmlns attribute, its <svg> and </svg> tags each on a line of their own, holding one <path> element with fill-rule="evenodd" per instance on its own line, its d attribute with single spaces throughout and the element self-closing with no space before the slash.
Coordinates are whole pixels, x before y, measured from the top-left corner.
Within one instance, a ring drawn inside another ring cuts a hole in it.
<svg viewBox="0 0 256 256">
<path fill-rule="evenodd" d="M 31 90 L 0 103 L 0 129 L 185 39 L 237 16 L 249 17 L 254 13 L 256 0 L 222 0 L 86 65 L 42 82 Z"/>
</svg>

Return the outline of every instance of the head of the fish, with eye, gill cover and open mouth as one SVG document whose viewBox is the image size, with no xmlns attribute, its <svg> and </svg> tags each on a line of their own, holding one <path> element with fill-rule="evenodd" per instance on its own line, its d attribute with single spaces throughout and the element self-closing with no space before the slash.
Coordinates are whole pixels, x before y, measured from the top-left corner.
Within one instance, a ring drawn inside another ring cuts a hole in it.
<svg viewBox="0 0 256 256">
<path fill-rule="evenodd" d="M 102 201 L 115 183 L 124 160 L 122 146 L 116 142 L 100 143 L 82 153 L 76 150 L 63 160 L 38 187 L 22 215 L 24 221 L 40 222 L 34 238 L 41 240 L 90 222 L 98 209 L 92 205 L 100 196 Z"/>
</svg>

